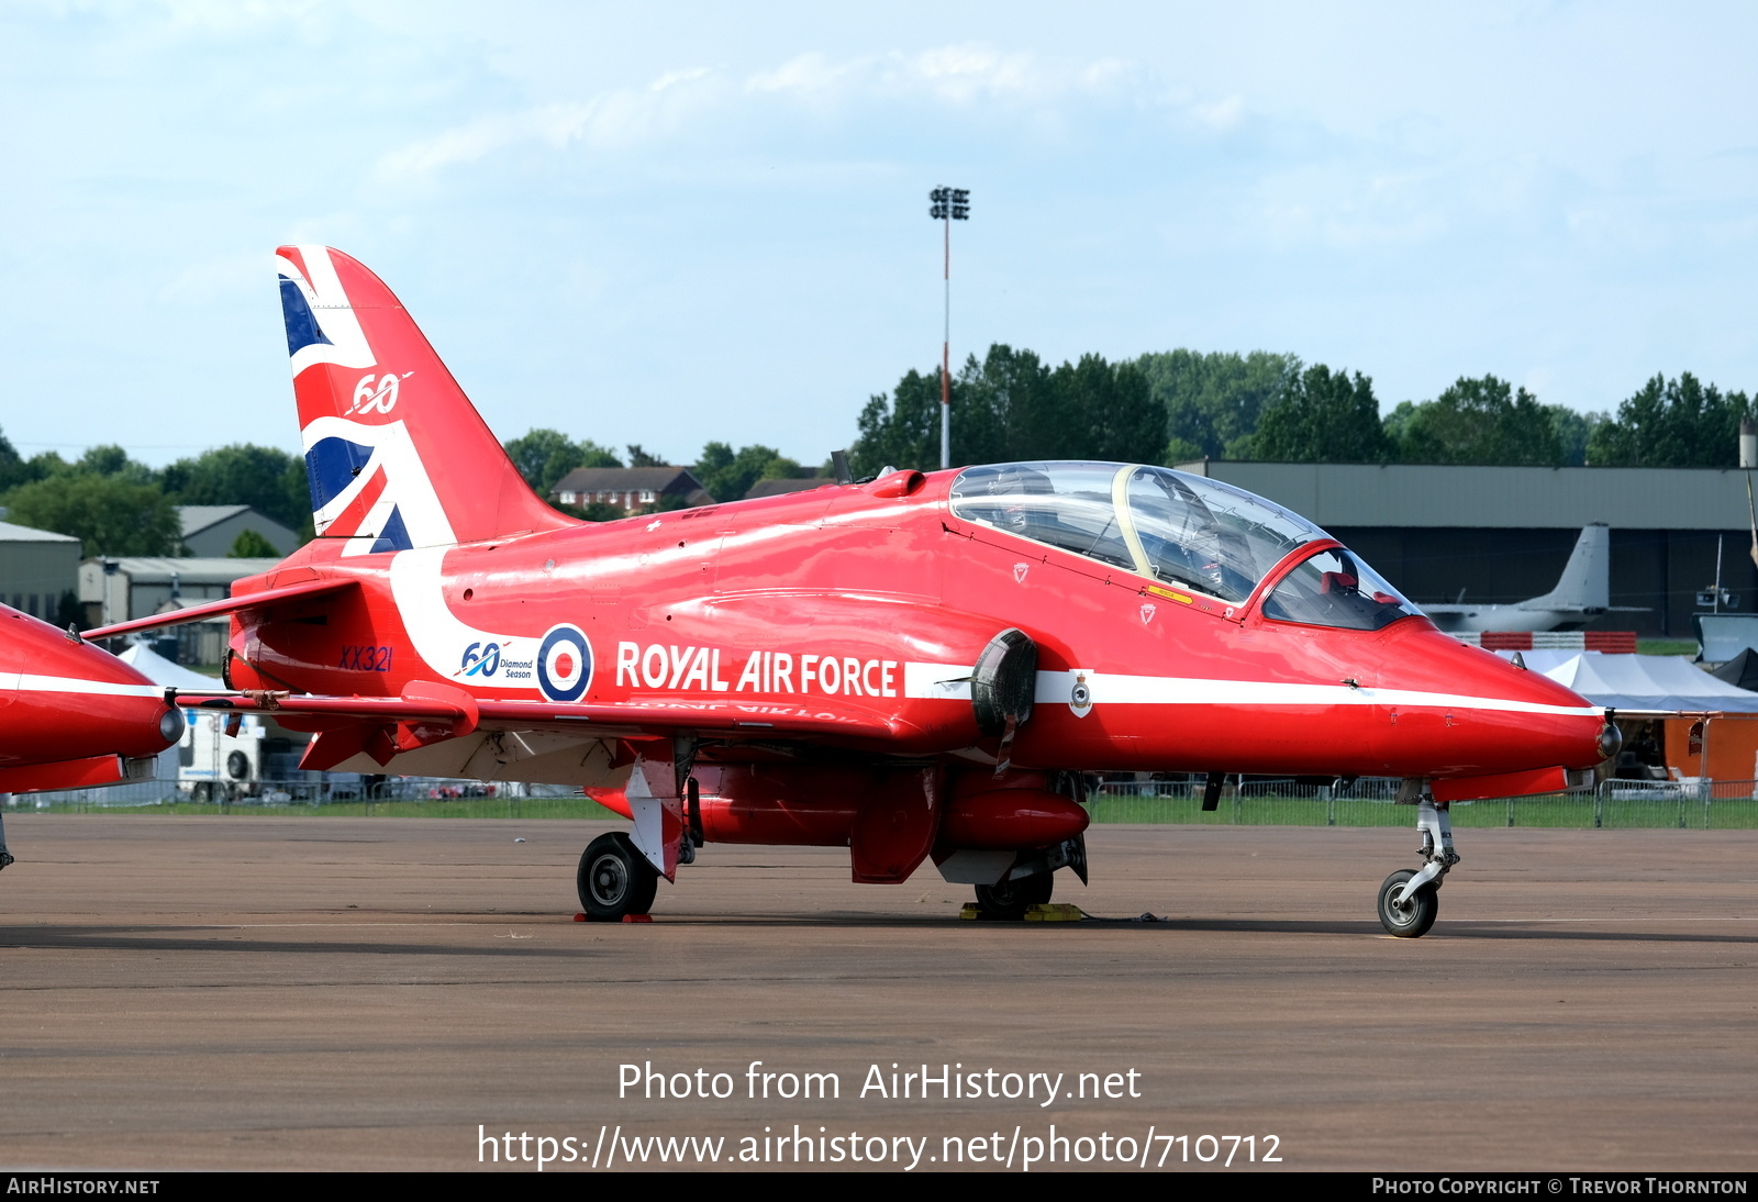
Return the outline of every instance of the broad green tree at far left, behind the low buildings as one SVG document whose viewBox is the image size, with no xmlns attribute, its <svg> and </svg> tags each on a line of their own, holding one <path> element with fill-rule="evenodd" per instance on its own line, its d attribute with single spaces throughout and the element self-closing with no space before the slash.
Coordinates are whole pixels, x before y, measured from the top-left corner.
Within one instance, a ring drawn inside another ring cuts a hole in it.
<svg viewBox="0 0 1758 1202">
<path fill-rule="evenodd" d="M 7 520 L 72 534 L 81 554 L 176 555 L 183 543 L 178 508 L 156 483 L 118 474 L 63 471 L 5 494 Z"/>
</svg>

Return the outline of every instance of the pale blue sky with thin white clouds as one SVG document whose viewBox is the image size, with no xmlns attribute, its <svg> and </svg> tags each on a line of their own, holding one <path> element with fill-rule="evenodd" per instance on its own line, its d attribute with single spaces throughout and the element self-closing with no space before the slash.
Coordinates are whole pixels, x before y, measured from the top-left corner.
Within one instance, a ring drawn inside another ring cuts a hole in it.
<svg viewBox="0 0 1758 1202">
<path fill-rule="evenodd" d="M 271 257 L 501 438 L 805 464 L 953 357 L 1758 388 L 1758 9 L 0 0 L 0 431 L 297 450 Z"/>
</svg>

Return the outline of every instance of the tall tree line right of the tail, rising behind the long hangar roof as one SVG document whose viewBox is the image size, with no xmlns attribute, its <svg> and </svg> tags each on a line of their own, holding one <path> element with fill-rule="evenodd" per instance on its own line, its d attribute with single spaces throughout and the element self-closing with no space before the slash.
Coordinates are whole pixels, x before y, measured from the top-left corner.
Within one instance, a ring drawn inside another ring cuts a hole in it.
<svg viewBox="0 0 1758 1202">
<path fill-rule="evenodd" d="M 1616 413 L 1540 404 L 1493 374 L 1461 376 L 1429 401 L 1380 413 L 1373 380 L 1296 355 L 1190 350 L 1051 367 L 990 346 L 951 381 L 955 464 L 1009 459 L 1197 459 L 1355 464 L 1732 467 L 1744 392 L 1691 373 L 1654 376 Z M 937 467 L 939 371 L 905 373 L 874 395 L 849 450 L 858 474 Z"/>
</svg>

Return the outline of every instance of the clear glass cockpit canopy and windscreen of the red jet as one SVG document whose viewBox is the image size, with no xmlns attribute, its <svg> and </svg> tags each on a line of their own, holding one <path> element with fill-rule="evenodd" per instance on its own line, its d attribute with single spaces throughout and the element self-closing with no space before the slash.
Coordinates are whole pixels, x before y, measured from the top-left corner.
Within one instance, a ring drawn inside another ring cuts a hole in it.
<svg viewBox="0 0 1758 1202">
<path fill-rule="evenodd" d="M 1028 462 L 967 467 L 953 513 L 1167 587 L 1239 605 L 1322 529 L 1243 489 L 1167 467 Z M 1377 631 L 1419 610 L 1340 547 L 1287 571 L 1268 619 Z"/>
</svg>

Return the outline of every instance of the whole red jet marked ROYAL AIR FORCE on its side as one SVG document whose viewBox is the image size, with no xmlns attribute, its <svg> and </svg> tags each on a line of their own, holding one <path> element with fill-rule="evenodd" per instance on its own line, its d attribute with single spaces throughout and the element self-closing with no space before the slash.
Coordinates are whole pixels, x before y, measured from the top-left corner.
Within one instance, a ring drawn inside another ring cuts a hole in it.
<svg viewBox="0 0 1758 1202">
<path fill-rule="evenodd" d="M 1447 803 L 1561 789 L 1605 712 L 1442 634 L 1324 531 L 1164 467 L 1034 462 L 577 522 L 545 504 L 353 258 L 278 253 L 318 538 L 234 597 L 216 706 L 302 766 L 571 784 L 633 821 L 580 859 L 643 914 L 705 840 L 933 858 L 984 912 L 1083 880 L 1093 771 L 1394 775 L 1435 919 Z M 167 619 L 125 622 L 95 636 Z"/>
</svg>

